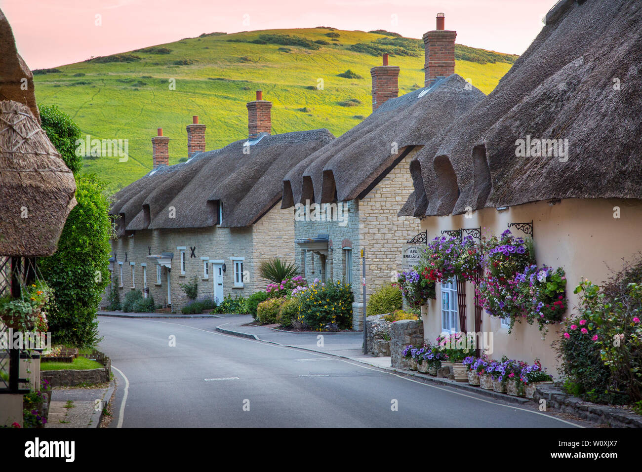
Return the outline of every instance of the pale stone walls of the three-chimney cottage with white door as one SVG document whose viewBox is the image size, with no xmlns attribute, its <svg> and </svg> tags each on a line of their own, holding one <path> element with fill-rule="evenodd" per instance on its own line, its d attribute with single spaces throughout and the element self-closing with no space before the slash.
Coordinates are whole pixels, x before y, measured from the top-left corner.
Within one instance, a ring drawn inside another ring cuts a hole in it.
<svg viewBox="0 0 642 472">
<path fill-rule="evenodd" d="M 254 277 L 255 263 L 268 255 L 293 258 L 292 240 L 294 236 L 291 211 L 273 207 L 253 227 L 204 229 L 163 229 L 137 231 L 134 236 L 123 236 L 112 241 L 112 251 L 116 252 L 116 262 L 110 264 L 114 274 L 118 275 L 119 262 L 123 263 L 121 302 L 125 293 L 132 290 L 132 266 L 134 263 L 135 288 L 143 289 L 143 266 L 147 264 L 147 285 L 150 295 L 157 304 L 168 302 L 167 268 L 161 268 L 160 284 L 157 283 L 156 262 L 148 255 L 159 255 L 161 252 L 173 252 L 171 271 L 169 271 L 169 292 L 173 310 L 180 310 L 188 299 L 180 288 L 191 277 L 198 277 L 198 297 L 213 298 L 214 271 L 209 259 L 222 260 L 226 265 L 223 274 L 223 295 L 231 293 L 232 297 L 247 297 L 258 290 L 265 290 L 265 283 Z M 256 247 L 255 247 L 256 244 Z M 148 248 L 149 247 L 149 248 Z M 178 247 L 185 247 L 185 275 L 180 271 L 180 252 Z M 195 247 L 191 257 L 191 247 Z M 125 253 L 127 261 L 125 261 Z M 202 257 L 208 258 L 209 275 L 204 277 Z M 243 287 L 234 286 L 234 261 L 232 257 L 243 257 L 245 277 Z M 257 265 L 256 265 L 257 268 Z M 108 290 L 108 289 L 107 289 Z M 106 300 L 103 295 L 103 301 Z"/>
</svg>

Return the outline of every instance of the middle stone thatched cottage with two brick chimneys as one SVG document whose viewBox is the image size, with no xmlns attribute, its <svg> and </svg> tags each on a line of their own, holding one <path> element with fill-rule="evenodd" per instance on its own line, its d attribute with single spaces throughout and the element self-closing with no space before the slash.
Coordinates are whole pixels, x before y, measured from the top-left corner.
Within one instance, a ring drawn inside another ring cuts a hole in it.
<svg viewBox="0 0 642 472">
<path fill-rule="evenodd" d="M 365 249 L 366 297 L 402 268 L 406 240 L 421 231 L 397 216 L 413 191 L 408 164 L 485 95 L 455 74 L 455 31 L 424 35 L 425 87 L 397 97 L 399 67 L 372 67 L 372 114 L 301 161 L 283 180 L 282 208 L 295 207 L 295 258 L 306 277 L 352 283 L 355 329 L 361 328 L 360 250 Z"/>
</svg>

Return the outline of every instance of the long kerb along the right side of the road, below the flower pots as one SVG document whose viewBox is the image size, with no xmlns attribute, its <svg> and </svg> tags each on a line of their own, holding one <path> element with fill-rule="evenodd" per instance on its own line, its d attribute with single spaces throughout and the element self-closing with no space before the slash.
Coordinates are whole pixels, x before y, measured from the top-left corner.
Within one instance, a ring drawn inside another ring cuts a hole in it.
<svg viewBox="0 0 642 472">
<path fill-rule="evenodd" d="M 441 385 L 444 387 L 453 387 L 454 389 L 457 389 L 457 390 L 465 390 L 465 392 L 468 392 L 468 393 L 478 394 L 478 395 L 486 396 L 496 400 L 507 401 L 509 403 L 516 403 L 518 405 L 525 405 L 526 403 L 532 403 L 533 401 L 528 398 L 514 397 L 506 394 L 501 394 L 498 392 L 494 392 L 493 390 L 484 390 L 481 388 L 475 388 L 463 382 L 460 383 L 460 382 L 455 382 L 455 381 L 446 380 L 442 378 L 431 377 L 428 375 L 424 376 L 423 374 L 415 373 L 414 371 L 406 371 L 405 369 L 395 369 L 394 367 L 385 367 L 381 365 L 376 365 L 370 362 L 365 362 L 364 360 L 361 360 L 359 358 L 343 356 L 342 354 L 326 353 L 324 351 L 317 351 L 316 349 L 309 349 L 308 347 L 300 347 L 297 345 L 281 344 L 279 342 L 267 341 L 257 337 L 256 335 L 249 335 L 248 333 L 241 333 L 240 331 L 234 331 L 232 329 L 219 328 L 217 326 L 216 331 L 219 331 L 220 333 L 224 333 L 227 335 L 241 337 L 241 338 L 254 339 L 260 342 L 265 342 L 266 344 L 274 344 L 282 347 L 292 347 L 293 349 L 301 349 L 302 351 L 308 351 L 311 353 L 325 354 L 327 356 L 347 359 L 347 360 L 351 360 L 352 362 L 358 362 L 363 365 L 369 365 L 370 367 L 376 367 L 377 369 L 383 369 L 384 371 L 395 372 L 396 374 L 399 374 L 401 376 L 405 376 L 408 378 L 413 378 L 413 380 L 421 381 L 422 383 L 426 383 L 426 384 L 437 383 L 438 385 Z"/>
</svg>

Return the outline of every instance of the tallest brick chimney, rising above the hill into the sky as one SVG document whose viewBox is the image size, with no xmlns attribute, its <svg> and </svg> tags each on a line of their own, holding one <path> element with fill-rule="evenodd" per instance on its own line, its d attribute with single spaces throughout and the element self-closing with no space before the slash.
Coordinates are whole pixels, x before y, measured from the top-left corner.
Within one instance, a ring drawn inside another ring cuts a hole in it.
<svg viewBox="0 0 642 472">
<path fill-rule="evenodd" d="M 424 34 L 426 51 L 426 87 L 433 85 L 437 78 L 455 73 L 455 38 L 457 31 L 447 31 L 444 13 L 437 13 L 437 30 Z"/>
</svg>

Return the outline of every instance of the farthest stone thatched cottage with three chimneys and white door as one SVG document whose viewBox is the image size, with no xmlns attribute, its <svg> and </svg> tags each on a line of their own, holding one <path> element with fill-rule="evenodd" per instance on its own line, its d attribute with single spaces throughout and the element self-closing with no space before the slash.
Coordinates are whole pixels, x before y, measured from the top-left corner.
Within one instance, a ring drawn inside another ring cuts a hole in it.
<svg viewBox="0 0 642 472">
<path fill-rule="evenodd" d="M 272 103 L 248 108 L 249 139 L 205 152 L 205 125 L 187 126 L 189 159 L 168 166 L 168 137 L 152 138 L 153 170 L 116 193 L 112 270 L 119 289 L 139 288 L 173 310 L 198 277 L 198 297 L 250 295 L 265 283 L 258 263 L 293 258 L 291 211 L 281 210 L 286 171 L 329 143 L 325 129 L 270 135 Z"/>
</svg>

